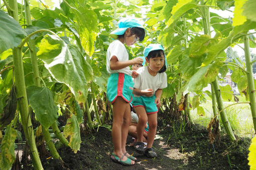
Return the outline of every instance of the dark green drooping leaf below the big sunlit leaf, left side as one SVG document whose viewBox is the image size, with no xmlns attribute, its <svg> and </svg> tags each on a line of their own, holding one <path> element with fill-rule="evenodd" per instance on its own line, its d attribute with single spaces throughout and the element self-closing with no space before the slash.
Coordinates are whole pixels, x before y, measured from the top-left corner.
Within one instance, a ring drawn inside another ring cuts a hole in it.
<svg viewBox="0 0 256 170">
<path fill-rule="evenodd" d="M 54 104 L 52 92 L 46 87 L 29 86 L 28 97 L 38 121 L 48 129 L 58 118 L 58 108 Z"/>
</svg>

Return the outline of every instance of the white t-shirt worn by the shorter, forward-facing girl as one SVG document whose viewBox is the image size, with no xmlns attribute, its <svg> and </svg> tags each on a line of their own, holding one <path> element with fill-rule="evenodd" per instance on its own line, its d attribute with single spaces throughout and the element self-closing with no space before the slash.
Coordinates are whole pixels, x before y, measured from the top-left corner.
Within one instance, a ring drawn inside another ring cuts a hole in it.
<svg viewBox="0 0 256 170">
<path fill-rule="evenodd" d="M 155 94 L 157 89 L 167 87 L 167 75 L 165 72 L 158 72 L 157 75 L 153 76 L 149 73 L 148 66 L 143 66 L 139 68 L 137 72 L 139 73 L 139 76 L 137 78 L 134 78 L 135 88 L 152 88 Z"/>
</svg>

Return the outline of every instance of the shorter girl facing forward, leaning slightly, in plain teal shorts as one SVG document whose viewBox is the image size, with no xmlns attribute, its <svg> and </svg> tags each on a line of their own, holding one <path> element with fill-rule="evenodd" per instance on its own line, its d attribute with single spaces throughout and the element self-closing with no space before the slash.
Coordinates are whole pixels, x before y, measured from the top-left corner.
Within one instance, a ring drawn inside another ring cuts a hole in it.
<svg viewBox="0 0 256 170">
<path fill-rule="evenodd" d="M 149 65 L 139 68 L 137 70 L 139 76 L 134 79 L 132 104 L 139 117 L 135 149 L 139 153 L 145 153 L 148 157 L 157 157 L 152 145 L 157 130 L 157 112 L 161 105 L 162 89 L 167 87 L 165 73 L 167 62 L 161 44 L 149 44 L 144 49 L 144 56 Z M 148 145 L 144 150 L 143 134 L 147 121 L 149 124 Z"/>
</svg>

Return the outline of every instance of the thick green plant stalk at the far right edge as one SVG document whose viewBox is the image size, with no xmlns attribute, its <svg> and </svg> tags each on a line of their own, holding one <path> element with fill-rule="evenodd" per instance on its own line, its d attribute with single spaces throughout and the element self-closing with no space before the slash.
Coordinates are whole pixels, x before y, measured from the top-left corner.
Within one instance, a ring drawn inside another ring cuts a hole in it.
<svg viewBox="0 0 256 170">
<path fill-rule="evenodd" d="M 250 99 L 250 110 L 252 115 L 252 121 L 254 125 L 254 132 L 256 133 L 256 96 L 255 96 L 255 88 L 254 88 L 254 80 L 253 80 L 253 72 L 252 72 L 252 63 L 250 58 L 250 50 L 249 50 L 249 38 L 248 35 L 243 37 L 244 42 L 244 53 L 245 53 L 245 64 L 246 64 L 246 75 L 247 75 L 247 83 L 248 83 L 248 93 Z"/>
</svg>

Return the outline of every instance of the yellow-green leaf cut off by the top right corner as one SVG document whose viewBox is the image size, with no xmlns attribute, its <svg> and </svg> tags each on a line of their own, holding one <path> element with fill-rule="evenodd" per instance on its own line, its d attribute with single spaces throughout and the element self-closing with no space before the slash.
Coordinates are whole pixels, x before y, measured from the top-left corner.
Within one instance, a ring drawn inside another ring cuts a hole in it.
<svg viewBox="0 0 256 170">
<path fill-rule="evenodd" d="M 246 16 L 247 19 L 256 21 L 256 0 L 247 0 L 242 6 L 242 15 Z"/>
</svg>

